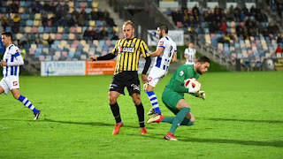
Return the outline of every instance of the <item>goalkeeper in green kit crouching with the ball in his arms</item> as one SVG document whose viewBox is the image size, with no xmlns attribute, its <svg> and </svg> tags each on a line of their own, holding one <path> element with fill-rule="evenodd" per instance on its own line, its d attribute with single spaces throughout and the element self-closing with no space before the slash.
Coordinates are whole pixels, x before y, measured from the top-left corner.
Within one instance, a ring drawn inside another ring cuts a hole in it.
<svg viewBox="0 0 283 159">
<path fill-rule="evenodd" d="M 198 57 L 195 64 L 183 64 L 173 74 L 162 94 L 162 102 L 166 107 L 176 115 L 176 117 L 164 117 L 163 115 L 155 115 L 147 121 L 149 123 L 171 123 L 169 133 L 164 136 L 164 140 L 176 140 L 174 133 L 179 125 L 194 125 L 195 117 L 190 112 L 191 108 L 184 99 L 184 93 L 195 95 L 196 97 L 205 99 L 204 91 L 201 91 L 201 84 L 195 82 L 194 88 L 184 87 L 184 81 L 195 78 L 208 71 L 210 67 L 210 59 L 208 57 Z"/>
</svg>

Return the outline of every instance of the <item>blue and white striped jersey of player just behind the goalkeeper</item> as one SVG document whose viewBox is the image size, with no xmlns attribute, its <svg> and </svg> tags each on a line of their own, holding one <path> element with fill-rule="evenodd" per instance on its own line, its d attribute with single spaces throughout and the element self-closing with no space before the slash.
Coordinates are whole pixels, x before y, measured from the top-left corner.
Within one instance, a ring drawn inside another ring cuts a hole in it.
<svg viewBox="0 0 283 159">
<path fill-rule="evenodd" d="M 164 48 L 164 51 L 159 57 L 156 57 L 154 65 L 160 69 L 168 71 L 173 54 L 174 52 L 177 52 L 176 43 L 172 41 L 171 37 L 165 36 L 160 39 L 157 49 L 158 47 Z"/>
</svg>

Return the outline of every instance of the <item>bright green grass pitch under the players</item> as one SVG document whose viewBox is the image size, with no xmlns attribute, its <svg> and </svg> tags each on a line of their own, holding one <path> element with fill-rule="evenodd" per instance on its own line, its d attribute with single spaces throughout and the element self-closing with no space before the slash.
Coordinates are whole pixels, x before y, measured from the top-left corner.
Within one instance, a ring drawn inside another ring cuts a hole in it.
<svg viewBox="0 0 283 159">
<path fill-rule="evenodd" d="M 165 117 L 173 117 L 155 92 Z M 20 93 L 42 110 L 32 111 L 1 95 L 0 158 L 283 158 L 283 72 L 208 72 L 201 76 L 206 99 L 185 95 L 195 125 L 180 126 L 179 141 L 164 140 L 170 124 L 146 125 L 139 133 L 132 99 L 119 97 L 125 125 L 111 134 L 111 75 L 20 78 Z M 150 109 L 142 92 L 145 113 Z M 146 119 L 148 117 L 146 116 Z"/>
</svg>

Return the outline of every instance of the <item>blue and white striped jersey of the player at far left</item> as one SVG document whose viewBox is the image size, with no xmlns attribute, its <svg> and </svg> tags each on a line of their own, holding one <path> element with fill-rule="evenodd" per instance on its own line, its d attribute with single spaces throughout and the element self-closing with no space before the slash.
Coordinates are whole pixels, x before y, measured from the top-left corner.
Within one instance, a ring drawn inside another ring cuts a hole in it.
<svg viewBox="0 0 283 159">
<path fill-rule="evenodd" d="M 3 67 L 3 76 L 18 76 L 19 65 L 24 64 L 23 58 L 19 54 L 19 48 L 11 44 L 5 50 L 3 61 L 7 62 L 7 66 Z"/>
</svg>

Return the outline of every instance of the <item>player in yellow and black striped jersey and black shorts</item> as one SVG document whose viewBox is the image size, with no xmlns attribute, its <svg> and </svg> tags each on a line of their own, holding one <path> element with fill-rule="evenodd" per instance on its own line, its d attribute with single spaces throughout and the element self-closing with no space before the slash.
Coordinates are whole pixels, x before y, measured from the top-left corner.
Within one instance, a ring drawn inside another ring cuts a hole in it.
<svg viewBox="0 0 283 159">
<path fill-rule="evenodd" d="M 145 66 L 142 71 L 142 82 L 148 82 L 146 73 L 149 70 L 150 57 L 149 49 L 145 42 L 141 39 L 134 37 L 134 24 L 128 20 L 123 25 L 123 33 L 125 39 L 120 39 L 116 42 L 115 48 L 111 53 L 103 57 L 89 57 L 93 61 L 96 60 L 110 60 L 117 57 L 117 64 L 109 87 L 109 101 L 111 111 L 116 120 L 115 128 L 112 132 L 113 135 L 119 133 L 119 129 L 124 125 L 119 112 L 119 105 L 117 99 L 120 94 L 125 95 L 124 88 L 127 88 L 129 95 L 132 96 L 134 105 L 136 107 L 137 115 L 139 117 L 140 128 L 142 134 L 148 134 L 144 125 L 144 109 L 141 100 L 141 87 L 140 79 L 138 76 L 139 58 L 142 54 L 146 59 Z"/>
</svg>

